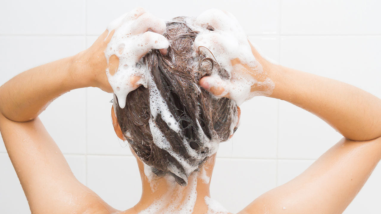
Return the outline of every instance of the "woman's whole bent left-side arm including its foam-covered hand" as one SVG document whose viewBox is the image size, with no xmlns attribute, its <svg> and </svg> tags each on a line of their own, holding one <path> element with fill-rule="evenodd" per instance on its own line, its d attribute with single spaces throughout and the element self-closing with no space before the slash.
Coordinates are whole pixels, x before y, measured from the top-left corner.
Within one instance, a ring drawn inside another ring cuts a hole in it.
<svg viewBox="0 0 381 214">
<path fill-rule="evenodd" d="M 136 60 L 151 49 L 165 47 L 166 38 L 160 35 L 165 31 L 164 21 L 142 8 L 131 11 L 125 19 L 136 26 L 131 32 L 125 32 L 138 37 L 130 40 L 130 44 L 136 47 L 135 43 L 146 42 L 139 50 L 125 50 L 134 54 Z M 104 54 L 113 35 L 114 30 L 110 34 L 106 30 L 87 50 L 27 70 L 0 87 L 0 131 L 34 214 L 116 211 L 74 177 L 58 146 L 38 119 L 51 101 L 72 89 L 97 87 L 113 91 L 106 68 L 114 75 L 119 59 L 112 55 L 106 61 Z M 165 54 L 166 48 L 160 52 Z M 139 78 L 130 77 L 128 84 L 132 89 L 138 88 Z"/>
</svg>

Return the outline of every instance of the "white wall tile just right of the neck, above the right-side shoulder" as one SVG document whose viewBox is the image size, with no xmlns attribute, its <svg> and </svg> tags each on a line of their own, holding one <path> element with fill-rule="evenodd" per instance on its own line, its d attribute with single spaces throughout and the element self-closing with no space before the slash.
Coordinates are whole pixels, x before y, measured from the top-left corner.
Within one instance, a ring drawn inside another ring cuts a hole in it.
<svg viewBox="0 0 381 214">
<path fill-rule="evenodd" d="M 217 158 L 210 196 L 237 213 L 275 187 L 276 160 Z"/>
</svg>

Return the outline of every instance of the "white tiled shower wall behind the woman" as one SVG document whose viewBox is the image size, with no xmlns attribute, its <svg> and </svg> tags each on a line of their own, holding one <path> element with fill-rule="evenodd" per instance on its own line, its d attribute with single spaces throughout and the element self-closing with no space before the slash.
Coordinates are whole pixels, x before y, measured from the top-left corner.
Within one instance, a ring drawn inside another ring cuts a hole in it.
<svg viewBox="0 0 381 214">
<path fill-rule="evenodd" d="M 335 78 L 381 97 L 381 1 L 378 0 L 1 0 L 0 85 L 37 65 L 89 47 L 113 19 L 143 6 L 157 16 L 231 11 L 251 42 L 280 64 Z M 75 176 L 107 203 L 138 202 L 140 178 L 110 121 L 110 94 L 77 89 L 40 116 Z M 287 102 L 255 97 L 242 105 L 241 127 L 221 143 L 211 196 L 237 212 L 306 169 L 341 136 Z M 0 144 L 0 212 L 29 213 L 4 145 Z M 381 167 L 346 214 L 381 213 Z M 324 206 L 324 204 L 322 204 Z"/>
</svg>

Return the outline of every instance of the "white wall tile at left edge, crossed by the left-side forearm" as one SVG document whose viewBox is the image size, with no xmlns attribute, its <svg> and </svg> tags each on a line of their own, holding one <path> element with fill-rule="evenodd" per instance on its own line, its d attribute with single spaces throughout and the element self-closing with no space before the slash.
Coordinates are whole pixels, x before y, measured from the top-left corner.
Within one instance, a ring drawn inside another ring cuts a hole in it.
<svg viewBox="0 0 381 214">
<path fill-rule="evenodd" d="M 3 85 L 23 70 L 78 53 L 85 47 L 85 38 L 0 35 L 0 47 L 3 69 L 0 84 Z M 56 99 L 41 115 L 46 128 L 64 153 L 86 152 L 85 107 L 86 89 L 77 89 Z M 1 144 L 0 151 L 5 152 L 4 144 Z"/>
</svg>

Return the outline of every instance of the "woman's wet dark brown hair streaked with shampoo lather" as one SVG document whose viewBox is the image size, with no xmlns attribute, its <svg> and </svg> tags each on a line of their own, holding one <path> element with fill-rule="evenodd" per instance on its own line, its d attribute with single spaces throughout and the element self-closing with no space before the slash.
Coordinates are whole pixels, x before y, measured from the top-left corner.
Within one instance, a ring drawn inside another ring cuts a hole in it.
<svg viewBox="0 0 381 214">
<path fill-rule="evenodd" d="M 154 93 L 150 84 L 131 91 L 123 109 L 114 96 L 117 120 L 130 147 L 157 176 L 170 174 L 180 185 L 187 184 L 191 172 L 176 157 L 182 157 L 187 166 L 197 170 L 216 152 L 216 148 L 210 148 L 213 145 L 210 142 L 229 140 L 236 125 L 232 123 L 237 123 L 234 101 L 216 98 L 198 85 L 200 78 L 209 75 L 212 69 L 218 69 L 222 75 L 226 72 L 213 58 L 203 55 L 203 51 L 194 50 L 194 39 L 199 32 L 192 30 L 184 18 L 174 18 L 166 24 L 164 36 L 170 42 L 166 56 L 152 50 L 143 57 L 143 66 L 147 66 L 157 87 L 155 93 L 163 97 L 158 102 L 165 102 L 181 131 L 172 130 L 160 112 L 152 117 L 150 102 L 155 101 L 149 99 L 150 93 Z M 150 125 L 168 140 L 171 153 L 155 144 Z"/>
</svg>

